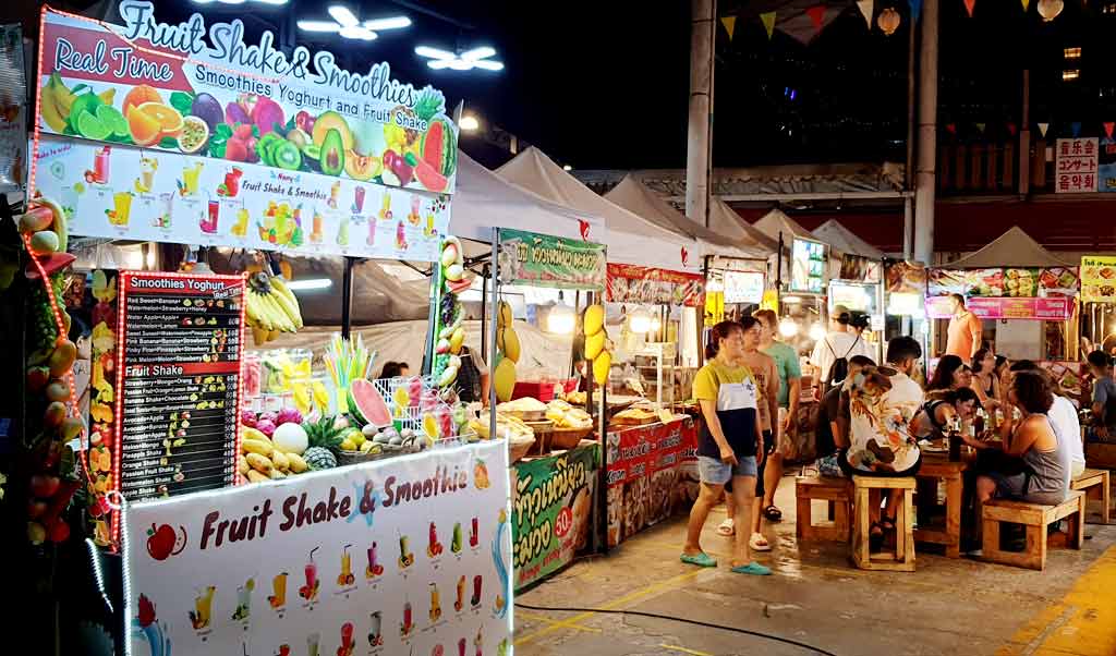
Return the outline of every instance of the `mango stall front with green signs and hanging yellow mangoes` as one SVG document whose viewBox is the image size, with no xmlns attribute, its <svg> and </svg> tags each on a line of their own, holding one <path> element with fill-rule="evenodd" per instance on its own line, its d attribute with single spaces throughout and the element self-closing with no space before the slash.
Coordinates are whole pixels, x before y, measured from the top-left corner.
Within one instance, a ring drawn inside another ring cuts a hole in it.
<svg viewBox="0 0 1116 656">
<path fill-rule="evenodd" d="M 501 300 L 504 286 L 551 287 L 586 291 L 588 306 L 580 321 L 591 367 L 586 398 L 594 398 L 593 387 L 607 380 L 612 356 L 604 329 L 605 247 L 587 241 L 564 239 L 518 230 L 492 231 L 492 284 L 484 302 L 489 310 L 489 349 L 493 354 L 493 375 L 489 407 L 503 405 L 503 413 L 489 413 L 490 434 L 512 431 L 518 417 L 508 414 L 539 412 L 556 424 L 568 416 L 567 405 L 554 401 L 520 398 L 512 402 L 516 388 L 518 339 L 511 328 L 511 307 Z M 604 473 L 600 467 L 602 437 L 605 434 L 605 398 L 589 404 L 593 433 L 571 448 L 552 450 L 549 455 L 525 457 L 512 465 L 512 536 L 514 543 L 516 588 L 536 583 L 573 561 L 583 549 L 603 550 L 600 528 L 605 517 Z M 561 403 L 561 402 L 559 402 Z M 521 404 L 521 405 L 517 405 Z M 532 407 L 528 407 L 528 406 Z M 537 408 L 537 409 L 536 409 Z M 498 417 L 498 415 L 500 415 Z M 504 427 L 507 426 L 507 427 Z M 569 446 L 564 444 L 564 446 Z M 551 494 L 551 492 L 554 492 Z M 542 500 L 546 500 L 543 503 Z"/>
</svg>

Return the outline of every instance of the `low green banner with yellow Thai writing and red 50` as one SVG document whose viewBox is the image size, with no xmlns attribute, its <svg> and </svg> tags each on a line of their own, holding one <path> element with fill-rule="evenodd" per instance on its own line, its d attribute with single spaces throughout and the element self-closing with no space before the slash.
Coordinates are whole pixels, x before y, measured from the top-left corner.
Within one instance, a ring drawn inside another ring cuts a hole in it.
<svg viewBox="0 0 1116 656">
<path fill-rule="evenodd" d="M 600 446 L 586 444 L 511 467 L 516 589 L 573 562 L 589 543 Z"/>
</svg>

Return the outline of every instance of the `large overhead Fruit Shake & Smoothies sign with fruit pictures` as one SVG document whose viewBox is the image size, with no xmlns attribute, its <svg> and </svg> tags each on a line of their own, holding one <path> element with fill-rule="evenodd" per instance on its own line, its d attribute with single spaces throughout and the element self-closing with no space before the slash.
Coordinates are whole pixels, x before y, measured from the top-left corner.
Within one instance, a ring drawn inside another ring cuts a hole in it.
<svg viewBox="0 0 1116 656">
<path fill-rule="evenodd" d="M 283 52 L 240 20 L 124 25 L 44 9 L 35 189 L 71 232 L 433 260 L 458 128 L 441 91 L 333 54 Z"/>
</svg>

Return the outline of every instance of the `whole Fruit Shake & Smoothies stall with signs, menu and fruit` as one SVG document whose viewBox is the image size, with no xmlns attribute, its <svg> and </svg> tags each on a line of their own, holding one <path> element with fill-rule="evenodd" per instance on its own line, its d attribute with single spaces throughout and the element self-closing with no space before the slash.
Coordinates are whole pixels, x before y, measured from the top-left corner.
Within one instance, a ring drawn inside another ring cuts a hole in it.
<svg viewBox="0 0 1116 656">
<path fill-rule="evenodd" d="M 44 8 L 41 50 L 73 58 L 39 61 L 35 201 L 20 219 L 41 292 L 30 542 L 65 542 L 74 525 L 115 550 L 112 628 L 126 653 L 352 656 L 365 640 L 369 653 L 507 653 L 507 444 L 460 434 L 452 367 L 372 382 L 372 350 L 348 339 L 357 258 L 436 262 L 452 243 L 458 128 L 444 96 L 392 79 L 387 64 L 318 78 L 307 67 L 335 66 L 328 52 L 291 57 L 270 33 L 252 47 L 289 69 L 264 78 L 230 54 L 249 48 L 233 26 L 194 15 L 186 30 L 134 9 L 122 3 L 125 25 L 109 25 Z M 80 64 L 105 51 L 136 66 Z M 261 253 L 221 274 L 187 258 L 93 277 L 88 430 L 59 301 L 69 234 Z M 323 353 L 246 357 L 249 340 L 301 328 L 281 268 L 298 255 L 345 259 L 341 335 Z M 191 489 L 194 453 L 214 471 Z M 108 515 L 115 531 L 100 528 Z"/>
</svg>

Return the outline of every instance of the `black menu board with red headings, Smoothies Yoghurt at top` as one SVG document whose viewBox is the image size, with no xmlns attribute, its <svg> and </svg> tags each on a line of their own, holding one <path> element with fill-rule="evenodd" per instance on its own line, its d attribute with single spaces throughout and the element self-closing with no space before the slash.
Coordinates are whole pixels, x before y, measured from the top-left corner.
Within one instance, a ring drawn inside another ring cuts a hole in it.
<svg viewBox="0 0 1116 656">
<path fill-rule="evenodd" d="M 115 482 L 129 501 L 235 481 L 244 279 L 122 271 Z"/>
</svg>

